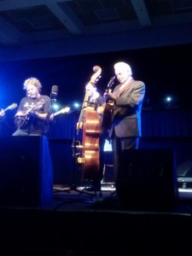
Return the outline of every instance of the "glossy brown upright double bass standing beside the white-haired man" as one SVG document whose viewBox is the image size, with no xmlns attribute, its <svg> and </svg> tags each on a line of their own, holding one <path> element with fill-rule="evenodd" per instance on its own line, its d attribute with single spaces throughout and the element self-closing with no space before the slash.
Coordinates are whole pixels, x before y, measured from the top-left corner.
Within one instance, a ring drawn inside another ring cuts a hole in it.
<svg viewBox="0 0 192 256">
<path fill-rule="evenodd" d="M 93 67 L 94 74 L 90 78 L 90 84 L 95 85 L 99 79 L 102 68 Z M 94 108 L 90 107 L 90 90 L 85 90 L 84 102 L 79 117 L 79 123 L 84 115 L 81 157 L 78 162 L 82 165 L 83 180 L 96 180 L 99 177 L 99 137 L 100 118 Z M 79 127 L 78 127 L 79 129 Z"/>
</svg>

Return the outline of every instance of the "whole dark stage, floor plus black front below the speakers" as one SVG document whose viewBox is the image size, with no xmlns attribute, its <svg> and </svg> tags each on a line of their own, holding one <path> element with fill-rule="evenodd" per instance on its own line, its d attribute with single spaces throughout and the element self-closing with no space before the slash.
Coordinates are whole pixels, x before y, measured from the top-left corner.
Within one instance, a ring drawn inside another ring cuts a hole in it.
<svg viewBox="0 0 192 256">
<path fill-rule="evenodd" d="M 0 207 L 0 253 L 11 256 L 181 255 L 190 245 L 192 189 L 164 211 L 120 206 L 113 183 L 102 191 L 55 184 L 53 201 Z M 184 248 L 184 249 L 183 249 Z"/>
</svg>

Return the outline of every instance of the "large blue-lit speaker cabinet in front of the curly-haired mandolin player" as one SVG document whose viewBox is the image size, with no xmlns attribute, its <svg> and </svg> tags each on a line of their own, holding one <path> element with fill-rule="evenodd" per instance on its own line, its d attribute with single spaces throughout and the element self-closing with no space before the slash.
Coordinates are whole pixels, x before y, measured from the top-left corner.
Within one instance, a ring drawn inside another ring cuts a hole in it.
<svg viewBox="0 0 192 256">
<path fill-rule="evenodd" d="M 0 165 L 0 205 L 42 206 L 52 201 L 47 137 L 1 138 Z"/>
</svg>

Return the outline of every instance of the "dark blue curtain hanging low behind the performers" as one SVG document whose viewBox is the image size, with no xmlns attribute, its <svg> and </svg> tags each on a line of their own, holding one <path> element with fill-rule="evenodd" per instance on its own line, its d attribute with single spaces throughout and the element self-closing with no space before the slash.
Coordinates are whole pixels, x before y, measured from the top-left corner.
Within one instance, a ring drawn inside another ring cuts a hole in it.
<svg viewBox="0 0 192 256">
<path fill-rule="evenodd" d="M 73 139 L 77 113 L 55 117 L 49 128 L 49 139 Z M 192 137 L 192 111 L 180 109 L 143 110 L 143 137 Z"/>
</svg>

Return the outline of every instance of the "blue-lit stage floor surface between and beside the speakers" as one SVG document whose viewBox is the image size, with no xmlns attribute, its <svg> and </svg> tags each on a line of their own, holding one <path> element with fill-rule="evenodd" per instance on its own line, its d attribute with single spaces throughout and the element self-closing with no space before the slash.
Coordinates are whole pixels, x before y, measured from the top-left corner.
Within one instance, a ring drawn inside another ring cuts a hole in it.
<svg viewBox="0 0 192 256">
<path fill-rule="evenodd" d="M 89 186 L 70 187 L 69 185 L 55 184 L 53 201 L 38 208 L 58 211 L 159 212 L 160 210 L 160 212 L 192 213 L 192 189 L 178 188 L 175 207 L 153 209 L 152 206 L 151 209 L 148 209 L 139 206 L 122 207 L 114 183 L 102 183 L 101 191 L 90 191 Z"/>
</svg>

